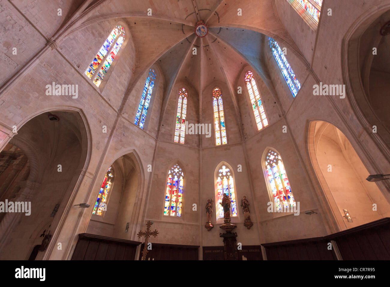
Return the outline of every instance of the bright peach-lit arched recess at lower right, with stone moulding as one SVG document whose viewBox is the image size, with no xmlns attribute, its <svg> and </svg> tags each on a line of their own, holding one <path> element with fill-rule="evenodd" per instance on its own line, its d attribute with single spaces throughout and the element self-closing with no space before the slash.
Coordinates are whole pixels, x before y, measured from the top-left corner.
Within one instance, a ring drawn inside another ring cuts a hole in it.
<svg viewBox="0 0 390 287">
<path fill-rule="evenodd" d="M 369 168 L 363 164 L 365 161 L 360 159 L 353 144 L 342 130 L 336 125 L 323 120 L 311 120 L 308 122 L 307 128 L 307 155 L 314 180 L 320 190 L 320 194 L 317 196 L 319 208 L 324 209 L 324 212 L 328 214 L 328 224 L 332 226 L 333 232 L 345 230 L 355 225 L 346 223 L 342 209 L 348 209 L 349 211 L 353 209 L 352 216 L 355 216 L 360 225 L 363 224 L 363 217 L 367 217 L 369 212 L 363 214 L 363 212 L 356 209 L 361 202 L 363 202 L 363 205 L 360 206 L 360 210 L 365 209 L 366 211 L 372 208 L 371 204 L 373 202 L 382 202 L 380 216 L 386 214 L 383 207 L 386 208 L 389 204 L 385 199 L 385 195 L 378 188 L 379 185 L 366 182 L 365 177 L 369 175 Z M 320 141 L 322 141 L 322 148 L 319 147 Z M 321 152 L 324 149 L 324 144 L 327 144 L 326 153 Z M 350 178 L 345 177 L 344 171 L 349 172 Z M 349 187 L 355 187 L 355 191 L 358 191 L 355 196 L 360 196 L 363 199 L 358 202 L 354 201 L 354 196 L 349 196 L 349 198 L 352 198 L 349 203 L 343 200 L 343 196 L 346 197 L 351 193 Z M 347 205 L 349 205 L 348 208 Z M 374 221 L 376 219 L 370 218 L 367 220 Z"/>
</svg>

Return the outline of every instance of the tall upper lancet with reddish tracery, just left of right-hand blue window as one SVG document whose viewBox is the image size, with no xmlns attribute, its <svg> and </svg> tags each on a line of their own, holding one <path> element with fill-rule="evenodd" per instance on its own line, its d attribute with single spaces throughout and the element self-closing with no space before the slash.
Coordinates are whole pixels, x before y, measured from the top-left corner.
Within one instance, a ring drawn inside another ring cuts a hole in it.
<svg viewBox="0 0 390 287">
<path fill-rule="evenodd" d="M 246 88 L 248 89 L 253 114 L 255 115 L 257 130 L 261 130 L 263 127 L 268 126 L 268 120 L 266 111 L 264 111 L 264 106 L 261 102 L 259 90 L 257 89 L 255 77 L 251 71 L 248 71 L 245 74 L 245 84 Z"/>
</svg>

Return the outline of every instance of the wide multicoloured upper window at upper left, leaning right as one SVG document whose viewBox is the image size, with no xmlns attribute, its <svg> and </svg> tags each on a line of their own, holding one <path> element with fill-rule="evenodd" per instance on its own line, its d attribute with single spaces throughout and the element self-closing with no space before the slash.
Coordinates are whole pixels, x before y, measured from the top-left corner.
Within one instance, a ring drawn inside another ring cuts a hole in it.
<svg viewBox="0 0 390 287">
<path fill-rule="evenodd" d="M 103 81 L 104 76 L 118 54 L 124 39 L 124 28 L 121 25 L 117 25 L 112 29 L 110 35 L 108 35 L 106 41 L 103 43 L 103 46 L 101 46 L 99 52 L 97 52 L 96 57 L 92 60 L 87 70 L 85 70 L 84 74 L 87 75 L 97 87 L 99 87 Z"/>
</svg>

